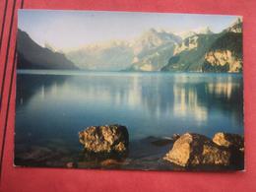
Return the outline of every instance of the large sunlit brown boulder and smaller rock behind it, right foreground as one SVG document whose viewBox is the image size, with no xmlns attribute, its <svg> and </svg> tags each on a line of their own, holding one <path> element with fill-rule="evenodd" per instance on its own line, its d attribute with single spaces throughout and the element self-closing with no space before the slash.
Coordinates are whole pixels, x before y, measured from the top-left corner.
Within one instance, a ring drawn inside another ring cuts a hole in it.
<svg viewBox="0 0 256 192">
<path fill-rule="evenodd" d="M 217 133 L 211 140 L 200 134 L 186 133 L 175 141 L 163 160 L 181 166 L 242 164 L 243 138 Z"/>
</svg>

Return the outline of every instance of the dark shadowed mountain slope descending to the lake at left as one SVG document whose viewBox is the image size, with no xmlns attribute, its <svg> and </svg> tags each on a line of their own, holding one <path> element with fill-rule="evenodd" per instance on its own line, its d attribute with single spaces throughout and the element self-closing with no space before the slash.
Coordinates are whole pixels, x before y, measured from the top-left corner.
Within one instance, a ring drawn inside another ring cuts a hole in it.
<svg viewBox="0 0 256 192">
<path fill-rule="evenodd" d="M 78 69 L 59 52 L 35 43 L 27 32 L 18 30 L 18 69 Z"/>
</svg>

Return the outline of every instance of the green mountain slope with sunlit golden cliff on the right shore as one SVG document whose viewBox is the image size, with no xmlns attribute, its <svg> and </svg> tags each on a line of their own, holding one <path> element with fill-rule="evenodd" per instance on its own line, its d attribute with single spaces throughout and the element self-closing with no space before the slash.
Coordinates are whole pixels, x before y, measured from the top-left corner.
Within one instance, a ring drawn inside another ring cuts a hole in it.
<svg viewBox="0 0 256 192">
<path fill-rule="evenodd" d="M 161 71 L 241 72 L 242 21 L 224 32 L 195 34 L 176 46 L 174 55 Z"/>
</svg>

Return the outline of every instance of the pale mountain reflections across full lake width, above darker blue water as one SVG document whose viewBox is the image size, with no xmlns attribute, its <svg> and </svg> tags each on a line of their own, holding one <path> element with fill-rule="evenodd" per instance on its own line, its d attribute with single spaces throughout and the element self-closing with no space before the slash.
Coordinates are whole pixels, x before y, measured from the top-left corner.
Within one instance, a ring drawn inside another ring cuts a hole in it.
<svg viewBox="0 0 256 192">
<path fill-rule="evenodd" d="M 67 79 L 68 77 L 68 79 Z M 85 76 L 18 76 L 17 104 L 36 99 L 84 107 L 141 111 L 148 118 L 206 123 L 219 111 L 242 122 L 242 82 L 236 76 L 89 73 Z M 32 97 L 31 97 L 32 96 Z M 83 110 L 83 108 L 82 108 Z M 189 119 L 188 119 L 189 118 Z"/>
</svg>

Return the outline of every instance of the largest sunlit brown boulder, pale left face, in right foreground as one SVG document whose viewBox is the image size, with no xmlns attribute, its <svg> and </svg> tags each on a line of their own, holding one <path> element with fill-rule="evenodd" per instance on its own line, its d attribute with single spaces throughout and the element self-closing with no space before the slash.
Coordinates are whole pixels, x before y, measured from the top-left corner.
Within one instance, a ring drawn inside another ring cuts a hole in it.
<svg viewBox="0 0 256 192">
<path fill-rule="evenodd" d="M 206 136 L 186 133 L 175 141 L 172 149 L 163 160 L 181 166 L 189 165 L 228 165 L 230 152 Z"/>
</svg>

